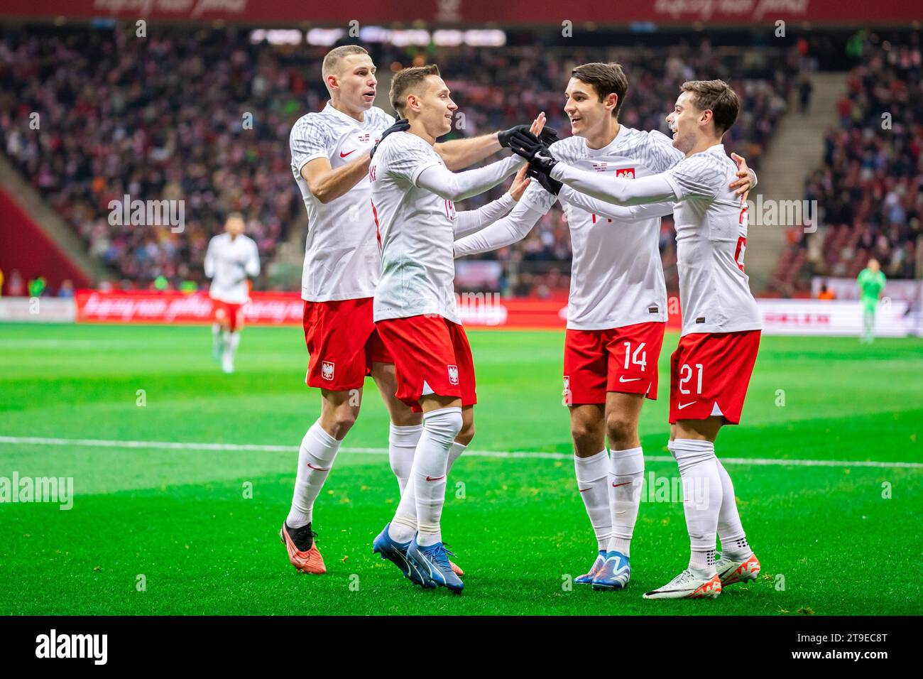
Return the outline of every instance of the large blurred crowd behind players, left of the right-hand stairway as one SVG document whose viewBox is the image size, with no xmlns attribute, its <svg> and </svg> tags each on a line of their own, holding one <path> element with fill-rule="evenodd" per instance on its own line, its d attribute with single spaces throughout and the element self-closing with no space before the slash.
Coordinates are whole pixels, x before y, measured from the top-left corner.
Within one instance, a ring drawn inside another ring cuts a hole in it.
<svg viewBox="0 0 923 679">
<path fill-rule="evenodd" d="M 4 29 L 0 148 L 123 287 L 201 285 L 209 238 L 231 211 L 246 215 L 265 271 L 305 219 L 288 136 L 299 116 L 326 102 L 319 64 L 328 49 L 251 44 L 246 30 L 170 29 L 137 39 L 126 30 Z M 727 149 L 757 169 L 798 68 L 794 49 L 742 52 L 713 49 L 707 40 L 655 50 L 384 45 L 373 58 L 380 68 L 438 63 L 465 115 L 455 136 L 510 127 L 543 110 L 567 136 L 563 89 L 570 68 L 584 62 L 624 65 L 629 94 L 621 119 L 642 129 L 665 130 L 683 80 L 723 78 L 744 104 Z M 185 200 L 184 228 L 110 224 L 110 201 L 125 195 Z M 669 273 L 668 219 L 661 241 Z M 521 262 L 523 275 L 506 281 L 518 293 L 566 289 L 569 232 L 560 210 L 494 256 Z"/>
</svg>

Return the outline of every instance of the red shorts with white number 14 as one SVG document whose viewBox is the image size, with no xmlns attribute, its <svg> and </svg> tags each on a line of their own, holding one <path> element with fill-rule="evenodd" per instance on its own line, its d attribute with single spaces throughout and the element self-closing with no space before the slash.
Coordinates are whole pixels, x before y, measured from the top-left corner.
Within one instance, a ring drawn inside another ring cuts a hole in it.
<svg viewBox="0 0 923 679">
<path fill-rule="evenodd" d="M 608 330 L 568 329 L 564 339 L 564 396 L 571 405 L 605 403 L 606 392 L 657 398 L 657 360 L 664 322 Z"/>
</svg>

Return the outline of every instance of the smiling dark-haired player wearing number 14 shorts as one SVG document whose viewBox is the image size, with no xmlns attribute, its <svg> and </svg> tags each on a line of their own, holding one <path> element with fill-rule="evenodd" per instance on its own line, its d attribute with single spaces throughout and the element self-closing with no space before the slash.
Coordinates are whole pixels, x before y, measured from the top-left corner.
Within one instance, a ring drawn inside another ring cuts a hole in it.
<svg viewBox="0 0 923 679">
<path fill-rule="evenodd" d="M 572 137 L 551 146 L 562 161 L 599 176 L 636 179 L 664 172 L 683 154 L 664 134 L 618 122 L 628 79 L 618 64 L 575 67 L 564 111 Z M 741 160 L 738 184 L 755 183 Z M 560 200 L 573 249 L 564 395 L 569 406 L 577 490 L 590 517 L 598 554 L 575 579 L 594 589 L 625 588 L 630 541 L 641 502 L 644 457 L 638 420 L 645 397 L 657 396 L 657 361 L 664 340 L 666 286 L 658 241 L 660 217 L 672 203 L 621 208 L 559 183 L 537 183 L 524 200 L 546 212 Z M 605 226 L 604 226 L 605 224 Z M 455 243 L 457 257 L 524 237 L 494 224 Z M 606 455 L 605 439 L 610 454 Z"/>
</svg>

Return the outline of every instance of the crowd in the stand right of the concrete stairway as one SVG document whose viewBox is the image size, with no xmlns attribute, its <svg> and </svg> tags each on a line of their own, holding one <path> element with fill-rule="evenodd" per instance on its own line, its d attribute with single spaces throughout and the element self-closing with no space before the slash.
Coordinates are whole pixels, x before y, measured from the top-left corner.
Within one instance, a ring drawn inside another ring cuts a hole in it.
<svg viewBox="0 0 923 679">
<path fill-rule="evenodd" d="M 923 85 L 919 34 L 904 44 L 869 36 L 837 102 L 839 127 L 824 139 L 823 164 L 808 177 L 820 237 L 789 233 L 771 285 L 807 293 L 811 277 L 855 278 L 874 257 L 889 278 L 914 278 L 923 215 Z"/>
</svg>

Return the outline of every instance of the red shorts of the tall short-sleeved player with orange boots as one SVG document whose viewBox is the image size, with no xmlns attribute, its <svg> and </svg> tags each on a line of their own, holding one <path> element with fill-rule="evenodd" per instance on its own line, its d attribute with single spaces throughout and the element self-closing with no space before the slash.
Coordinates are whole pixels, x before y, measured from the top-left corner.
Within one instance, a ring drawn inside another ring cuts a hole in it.
<svg viewBox="0 0 923 679">
<path fill-rule="evenodd" d="M 344 392 L 362 387 L 372 362 L 393 363 L 372 321 L 372 297 L 305 302 L 310 387 Z"/>
</svg>

